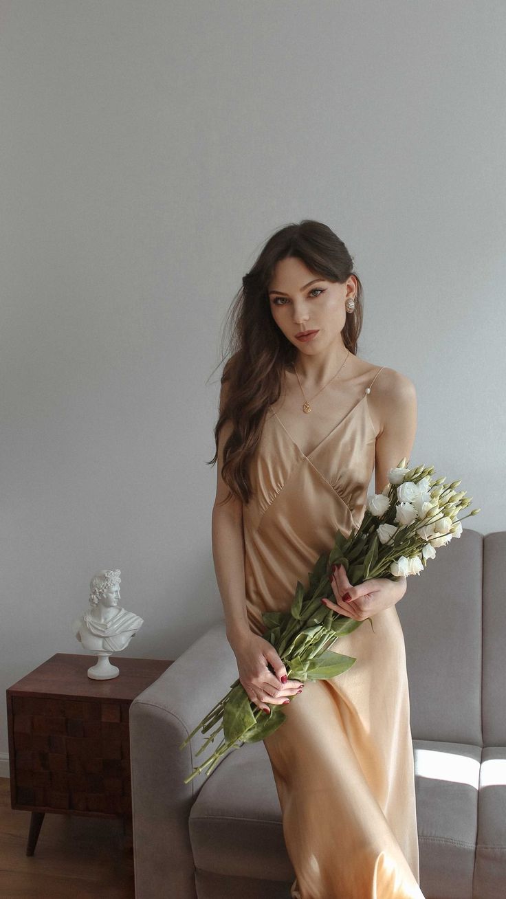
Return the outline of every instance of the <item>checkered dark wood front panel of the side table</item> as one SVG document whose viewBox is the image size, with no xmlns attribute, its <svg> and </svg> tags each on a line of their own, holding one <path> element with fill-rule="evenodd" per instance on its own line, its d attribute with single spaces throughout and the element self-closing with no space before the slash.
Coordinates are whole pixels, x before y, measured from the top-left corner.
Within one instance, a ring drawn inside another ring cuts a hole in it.
<svg viewBox="0 0 506 899">
<path fill-rule="evenodd" d="M 13 697 L 16 802 L 131 814 L 130 702 Z"/>
</svg>

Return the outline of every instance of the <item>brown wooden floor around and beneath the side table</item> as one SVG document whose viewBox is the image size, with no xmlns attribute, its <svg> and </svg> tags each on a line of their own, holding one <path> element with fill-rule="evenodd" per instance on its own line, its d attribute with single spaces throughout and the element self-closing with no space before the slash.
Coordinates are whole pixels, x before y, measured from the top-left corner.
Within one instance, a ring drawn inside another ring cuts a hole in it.
<svg viewBox="0 0 506 899">
<path fill-rule="evenodd" d="M 30 819 L 11 808 L 10 781 L 0 778 L 2 899 L 134 899 L 131 829 L 120 818 L 48 812 L 27 856 Z"/>
</svg>

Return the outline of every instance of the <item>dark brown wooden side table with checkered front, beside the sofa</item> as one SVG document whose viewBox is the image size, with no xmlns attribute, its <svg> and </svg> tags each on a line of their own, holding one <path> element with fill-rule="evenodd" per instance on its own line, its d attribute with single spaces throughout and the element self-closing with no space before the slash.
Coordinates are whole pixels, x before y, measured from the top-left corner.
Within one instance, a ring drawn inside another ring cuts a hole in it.
<svg viewBox="0 0 506 899">
<path fill-rule="evenodd" d="M 6 691 L 11 806 L 31 811 L 27 855 L 46 812 L 131 826 L 129 707 L 173 659 L 117 654 L 111 681 L 87 676 L 93 662 L 93 654 L 57 653 Z"/>
</svg>

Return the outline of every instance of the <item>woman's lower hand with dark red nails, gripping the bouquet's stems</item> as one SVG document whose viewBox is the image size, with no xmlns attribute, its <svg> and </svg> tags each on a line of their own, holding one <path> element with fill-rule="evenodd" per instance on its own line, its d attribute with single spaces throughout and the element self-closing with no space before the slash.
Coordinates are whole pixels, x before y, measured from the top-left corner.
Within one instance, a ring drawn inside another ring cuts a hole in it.
<svg viewBox="0 0 506 899">
<path fill-rule="evenodd" d="M 287 669 L 281 662 L 274 646 L 259 634 L 250 633 L 231 643 L 239 671 L 239 681 L 255 706 L 271 713 L 269 703 L 274 706 L 289 702 L 288 697 L 300 693 L 304 687 L 302 681 L 286 681 Z M 274 669 L 271 673 L 267 666 Z"/>
</svg>

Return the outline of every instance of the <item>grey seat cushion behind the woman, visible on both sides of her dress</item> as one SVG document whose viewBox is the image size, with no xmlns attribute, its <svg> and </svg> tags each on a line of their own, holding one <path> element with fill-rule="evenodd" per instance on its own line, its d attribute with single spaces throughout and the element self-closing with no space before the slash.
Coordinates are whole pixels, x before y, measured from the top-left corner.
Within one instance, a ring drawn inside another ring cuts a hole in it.
<svg viewBox="0 0 506 899">
<path fill-rule="evenodd" d="M 438 899 L 471 899 L 481 746 L 414 740 L 421 884 Z M 271 762 L 263 743 L 226 756 L 189 820 L 195 867 L 228 877 L 293 882 Z"/>
</svg>

